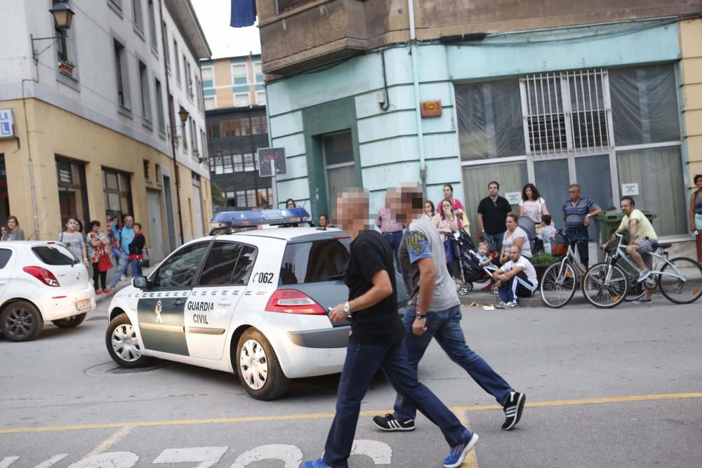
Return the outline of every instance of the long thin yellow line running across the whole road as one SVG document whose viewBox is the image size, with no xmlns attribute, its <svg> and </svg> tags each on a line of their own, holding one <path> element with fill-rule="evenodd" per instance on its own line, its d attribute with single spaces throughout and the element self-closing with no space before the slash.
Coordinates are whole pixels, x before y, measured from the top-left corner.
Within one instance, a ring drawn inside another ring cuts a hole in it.
<svg viewBox="0 0 702 468">
<path fill-rule="evenodd" d="M 661 395 L 633 395 L 633 396 L 609 396 L 604 398 L 576 399 L 576 400 L 555 400 L 536 401 L 527 403 L 527 408 L 545 408 L 548 406 L 569 406 L 569 405 L 590 405 L 597 403 L 625 403 L 630 401 L 654 401 L 654 400 L 677 400 L 702 398 L 702 393 L 680 393 Z M 449 408 L 454 413 L 458 411 L 482 411 L 502 409 L 499 405 L 476 405 L 476 406 L 453 406 Z M 388 410 L 362 411 L 361 416 L 384 415 Z M 234 422 L 258 422 L 258 421 L 290 421 L 290 420 L 314 420 L 331 419 L 334 413 L 307 413 L 300 415 L 271 415 L 271 416 L 244 416 L 244 417 L 220 417 L 199 420 L 164 420 L 164 421 L 131 421 L 131 422 L 103 422 L 96 424 L 69 424 L 65 426 L 45 426 L 45 427 L 13 427 L 0 429 L 0 434 L 20 434 L 22 432 L 55 432 L 74 431 L 79 429 L 110 429 L 112 427 L 154 427 L 154 426 L 180 426 L 189 424 L 230 424 Z"/>
</svg>

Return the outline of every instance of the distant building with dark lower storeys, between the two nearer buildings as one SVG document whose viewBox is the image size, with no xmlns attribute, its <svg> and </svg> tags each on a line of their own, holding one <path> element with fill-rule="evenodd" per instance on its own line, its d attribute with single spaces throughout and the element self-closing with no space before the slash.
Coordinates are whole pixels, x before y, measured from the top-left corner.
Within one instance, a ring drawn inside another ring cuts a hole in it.
<svg viewBox="0 0 702 468">
<path fill-rule="evenodd" d="M 258 148 L 268 147 L 260 55 L 203 60 L 210 176 L 226 203 L 220 209 L 269 208 L 271 179 L 258 175 Z"/>
</svg>

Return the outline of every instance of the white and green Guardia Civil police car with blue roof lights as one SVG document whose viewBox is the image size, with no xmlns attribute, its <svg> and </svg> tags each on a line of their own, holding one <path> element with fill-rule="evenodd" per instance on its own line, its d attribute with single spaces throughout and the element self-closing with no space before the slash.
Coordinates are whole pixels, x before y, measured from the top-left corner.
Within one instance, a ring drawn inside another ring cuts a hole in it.
<svg viewBox="0 0 702 468">
<path fill-rule="evenodd" d="M 350 322 L 333 324 L 327 312 L 348 297 L 349 236 L 314 227 L 236 232 L 307 222 L 304 208 L 215 220 L 225 234 L 186 243 L 114 295 L 105 334 L 112 359 L 126 368 L 159 358 L 236 373 L 262 400 L 282 396 L 293 378 L 340 372 Z M 404 307 L 406 295 L 398 296 Z"/>
</svg>

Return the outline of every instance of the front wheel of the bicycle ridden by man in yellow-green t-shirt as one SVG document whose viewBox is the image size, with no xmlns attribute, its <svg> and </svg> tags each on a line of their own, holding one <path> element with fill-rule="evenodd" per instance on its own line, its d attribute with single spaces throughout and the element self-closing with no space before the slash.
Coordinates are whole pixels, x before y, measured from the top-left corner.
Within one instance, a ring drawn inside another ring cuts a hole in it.
<svg viewBox="0 0 702 468">
<path fill-rule="evenodd" d="M 583 295 L 595 307 L 611 309 L 623 302 L 628 286 L 626 274 L 620 267 L 598 263 L 585 273 Z"/>
</svg>

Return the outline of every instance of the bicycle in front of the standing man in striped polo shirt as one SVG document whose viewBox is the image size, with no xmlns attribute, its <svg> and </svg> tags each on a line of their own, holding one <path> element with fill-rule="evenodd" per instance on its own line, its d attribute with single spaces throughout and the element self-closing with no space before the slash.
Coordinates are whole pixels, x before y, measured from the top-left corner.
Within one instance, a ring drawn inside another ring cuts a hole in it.
<svg viewBox="0 0 702 468">
<path fill-rule="evenodd" d="M 576 260 L 575 246 L 578 243 L 590 241 L 590 239 L 571 239 L 562 230 L 559 230 L 558 234 L 568 242 L 568 253 L 563 260 L 548 267 L 541 279 L 541 300 L 554 309 L 567 305 L 573 299 L 578 281 L 585 275 L 585 268 Z"/>
</svg>

